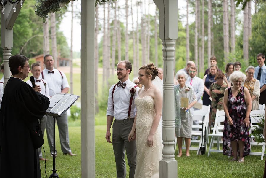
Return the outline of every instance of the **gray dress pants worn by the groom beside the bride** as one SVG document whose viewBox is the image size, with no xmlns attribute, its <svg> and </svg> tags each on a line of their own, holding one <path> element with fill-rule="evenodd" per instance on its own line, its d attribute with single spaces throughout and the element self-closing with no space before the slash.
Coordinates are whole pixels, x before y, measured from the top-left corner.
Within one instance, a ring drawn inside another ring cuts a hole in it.
<svg viewBox="0 0 266 178">
<path fill-rule="evenodd" d="M 128 158 L 129 178 L 133 178 L 136 169 L 136 140 L 128 142 L 128 134 L 133 126 L 134 119 L 115 120 L 113 123 L 112 144 L 115 153 L 117 178 L 126 177 L 125 151 Z"/>
</svg>

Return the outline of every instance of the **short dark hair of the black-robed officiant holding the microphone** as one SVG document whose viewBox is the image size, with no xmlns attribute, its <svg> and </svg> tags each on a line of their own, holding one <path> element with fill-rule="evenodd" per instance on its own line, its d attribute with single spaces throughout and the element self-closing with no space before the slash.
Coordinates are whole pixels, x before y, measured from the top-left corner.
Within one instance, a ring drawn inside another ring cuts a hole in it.
<svg viewBox="0 0 266 178">
<path fill-rule="evenodd" d="M 28 61 L 29 58 L 27 58 L 24 55 L 13 55 L 9 58 L 9 69 L 12 73 L 12 75 L 18 74 L 18 67 L 21 66 L 23 69 L 23 66 L 25 65 L 26 61 Z"/>
</svg>

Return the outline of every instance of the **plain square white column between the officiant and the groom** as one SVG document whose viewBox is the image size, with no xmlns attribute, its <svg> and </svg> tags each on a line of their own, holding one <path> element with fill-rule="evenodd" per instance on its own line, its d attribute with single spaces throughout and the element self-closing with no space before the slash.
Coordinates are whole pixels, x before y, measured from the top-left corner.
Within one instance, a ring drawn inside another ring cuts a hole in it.
<svg viewBox="0 0 266 178">
<path fill-rule="evenodd" d="M 81 0 L 81 177 L 95 177 L 94 0 Z"/>
</svg>

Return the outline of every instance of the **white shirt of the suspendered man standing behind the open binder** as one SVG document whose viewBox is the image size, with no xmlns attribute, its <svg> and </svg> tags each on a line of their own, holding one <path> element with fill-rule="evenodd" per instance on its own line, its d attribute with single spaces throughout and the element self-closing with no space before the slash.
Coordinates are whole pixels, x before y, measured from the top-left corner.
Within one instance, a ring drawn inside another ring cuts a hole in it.
<svg viewBox="0 0 266 178">
<path fill-rule="evenodd" d="M 61 72 L 61 75 L 60 72 L 55 68 L 52 70 L 54 73 L 48 74 L 48 71 L 50 70 L 46 68 L 43 70 L 43 79 L 45 79 L 49 84 L 49 94 L 51 97 L 56 93 L 61 93 L 62 89 L 69 88 L 67 77 L 63 72 Z M 42 78 L 41 75 L 40 77 Z"/>
</svg>

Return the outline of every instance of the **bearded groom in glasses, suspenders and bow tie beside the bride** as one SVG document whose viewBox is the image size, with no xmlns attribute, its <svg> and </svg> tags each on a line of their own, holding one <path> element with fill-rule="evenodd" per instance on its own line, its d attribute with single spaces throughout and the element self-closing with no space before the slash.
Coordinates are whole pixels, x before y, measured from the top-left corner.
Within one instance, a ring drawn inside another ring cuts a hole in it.
<svg viewBox="0 0 266 178">
<path fill-rule="evenodd" d="M 136 167 L 137 148 L 136 140 L 128 142 L 128 134 L 132 129 L 136 115 L 134 101 L 136 96 L 138 96 L 139 87 L 129 80 L 129 74 L 132 71 L 132 65 L 129 61 L 119 62 L 115 71 L 119 81 L 109 89 L 105 138 L 107 142 L 113 143 L 117 178 L 126 177 L 125 150 L 128 158 L 129 177 L 133 178 Z M 111 142 L 110 128 L 114 117 Z"/>
</svg>

